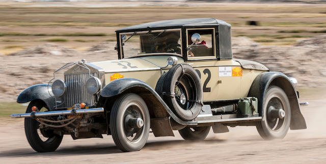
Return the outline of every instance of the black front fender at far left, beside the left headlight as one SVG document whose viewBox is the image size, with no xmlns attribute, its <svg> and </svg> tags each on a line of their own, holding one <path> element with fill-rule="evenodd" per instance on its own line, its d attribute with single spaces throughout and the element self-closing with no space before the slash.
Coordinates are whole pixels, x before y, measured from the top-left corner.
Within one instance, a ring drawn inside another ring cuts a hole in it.
<svg viewBox="0 0 326 164">
<path fill-rule="evenodd" d="M 28 103 L 34 100 L 41 100 L 46 104 L 49 110 L 52 110 L 55 106 L 56 99 L 50 95 L 48 89 L 51 89 L 51 86 L 48 84 L 30 86 L 18 95 L 17 103 Z"/>
</svg>

